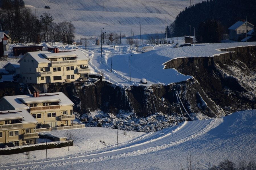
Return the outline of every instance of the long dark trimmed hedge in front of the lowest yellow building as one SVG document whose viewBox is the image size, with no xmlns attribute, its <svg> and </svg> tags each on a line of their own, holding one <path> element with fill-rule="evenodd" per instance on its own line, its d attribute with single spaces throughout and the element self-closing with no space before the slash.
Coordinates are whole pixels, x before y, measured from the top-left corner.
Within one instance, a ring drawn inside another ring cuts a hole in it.
<svg viewBox="0 0 256 170">
<path fill-rule="evenodd" d="M 26 145 L 26 147 L 10 147 L 7 150 L 0 150 L 0 155 L 11 155 L 11 154 L 19 154 L 23 152 L 30 152 L 34 150 L 45 150 L 53 149 L 53 148 L 62 148 L 66 146 L 73 146 L 73 141 L 63 141 L 63 142 L 51 142 L 49 144 L 35 144 L 35 145 Z M 13 149 L 12 149 L 13 148 Z"/>
</svg>

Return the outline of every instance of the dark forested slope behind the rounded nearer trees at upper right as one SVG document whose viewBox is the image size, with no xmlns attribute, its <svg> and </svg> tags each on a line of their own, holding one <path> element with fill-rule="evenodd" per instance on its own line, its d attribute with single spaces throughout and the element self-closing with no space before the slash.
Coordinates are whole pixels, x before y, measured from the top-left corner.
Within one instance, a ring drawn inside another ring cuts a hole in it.
<svg viewBox="0 0 256 170">
<path fill-rule="evenodd" d="M 216 20 L 222 26 L 224 33 L 240 19 L 256 25 L 255 0 L 210 0 L 197 3 L 180 12 L 171 24 L 174 36 L 190 35 L 190 26 L 197 33 L 199 24 L 207 20 Z M 193 29 L 192 29 L 192 32 Z M 194 33 L 191 33 L 194 35 Z"/>
</svg>

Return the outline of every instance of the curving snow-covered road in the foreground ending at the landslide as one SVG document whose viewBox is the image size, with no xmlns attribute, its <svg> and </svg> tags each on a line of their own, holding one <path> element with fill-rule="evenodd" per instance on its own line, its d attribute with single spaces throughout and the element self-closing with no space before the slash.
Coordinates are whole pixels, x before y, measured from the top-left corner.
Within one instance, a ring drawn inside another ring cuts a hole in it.
<svg viewBox="0 0 256 170">
<path fill-rule="evenodd" d="M 204 133 L 207 133 L 211 129 L 215 128 L 223 122 L 222 119 L 208 119 L 208 120 L 198 120 L 183 122 L 179 126 L 172 128 L 163 129 L 164 135 L 161 131 L 154 133 L 147 133 L 142 137 L 130 141 L 129 143 L 123 143 L 120 145 L 119 149 L 109 147 L 102 150 L 96 150 L 92 152 L 82 153 L 79 155 L 69 155 L 61 158 L 50 158 L 48 162 L 38 161 L 38 162 L 27 162 L 27 163 L 13 163 L 11 166 L 5 166 L 4 169 L 46 169 L 47 167 L 58 167 L 61 164 L 72 164 L 76 162 L 92 163 L 99 162 L 115 158 L 126 158 L 130 156 L 137 156 L 141 154 L 148 154 L 151 152 L 156 152 L 163 150 L 180 143 L 184 143 L 191 139 L 195 139 Z M 88 142 L 88 141 L 86 141 Z M 93 141 L 92 141 L 93 142 Z"/>
</svg>

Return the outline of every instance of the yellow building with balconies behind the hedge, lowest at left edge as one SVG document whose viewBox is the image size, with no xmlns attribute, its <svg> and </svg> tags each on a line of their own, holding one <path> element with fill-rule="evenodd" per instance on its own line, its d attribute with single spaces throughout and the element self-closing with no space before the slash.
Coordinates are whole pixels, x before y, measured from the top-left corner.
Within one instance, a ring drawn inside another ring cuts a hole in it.
<svg viewBox="0 0 256 170">
<path fill-rule="evenodd" d="M 26 110 L 0 111 L 0 145 L 15 146 L 38 143 L 38 122 Z"/>
</svg>

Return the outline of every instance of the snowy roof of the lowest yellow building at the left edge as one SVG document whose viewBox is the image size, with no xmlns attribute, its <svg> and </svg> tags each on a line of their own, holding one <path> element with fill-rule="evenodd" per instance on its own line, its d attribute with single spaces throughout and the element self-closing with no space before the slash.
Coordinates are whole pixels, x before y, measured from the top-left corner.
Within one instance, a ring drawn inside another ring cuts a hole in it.
<svg viewBox="0 0 256 170">
<path fill-rule="evenodd" d="M 21 123 L 37 123 L 36 119 L 26 110 L 1 111 L 0 120 L 21 119 Z"/>
</svg>

